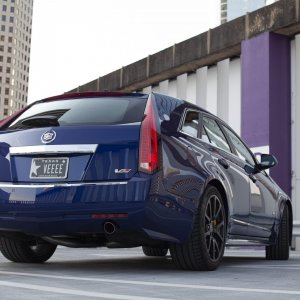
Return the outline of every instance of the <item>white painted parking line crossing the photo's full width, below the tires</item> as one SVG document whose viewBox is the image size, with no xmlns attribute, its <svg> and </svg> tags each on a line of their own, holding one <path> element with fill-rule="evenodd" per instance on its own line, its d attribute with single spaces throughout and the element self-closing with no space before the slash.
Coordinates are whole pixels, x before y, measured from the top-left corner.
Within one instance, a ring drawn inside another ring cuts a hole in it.
<svg viewBox="0 0 300 300">
<path fill-rule="evenodd" d="M 212 291 L 246 292 L 246 293 L 261 293 L 261 294 L 281 294 L 281 295 L 300 295 L 300 290 L 252 289 L 252 288 L 238 288 L 238 287 L 225 287 L 225 286 L 163 283 L 163 282 L 153 282 L 153 281 L 133 281 L 133 280 L 87 278 L 87 277 L 75 277 L 75 276 L 56 276 L 56 275 L 47 275 L 47 274 L 7 272 L 7 271 L 0 271 L 0 274 L 15 275 L 15 276 L 27 276 L 27 277 L 39 277 L 39 278 L 49 278 L 49 279 L 51 278 L 51 279 L 61 279 L 61 280 L 73 280 L 73 281 L 88 281 L 88 282 L 118 283 L 118 284 L 125 284 L 125 285 L 142 285 L 142 286 L 167 287 L 167 288 L 172 287 L 172 288 L 199 289 L 199 290 L 212 290 Z M 119 298 L 115 298 L 115 299 L 119 299 Z M 121 299 L 123 299 L 123 298 L 121 298 Z M 130 299 L 133 299 L 133 298 L 130 298 Z M 138 299 L 142 299 L 142 298 L 140 297 Z M 157 298 L 155 298 L 155 299 L 157 299 Z"/>
</svg>

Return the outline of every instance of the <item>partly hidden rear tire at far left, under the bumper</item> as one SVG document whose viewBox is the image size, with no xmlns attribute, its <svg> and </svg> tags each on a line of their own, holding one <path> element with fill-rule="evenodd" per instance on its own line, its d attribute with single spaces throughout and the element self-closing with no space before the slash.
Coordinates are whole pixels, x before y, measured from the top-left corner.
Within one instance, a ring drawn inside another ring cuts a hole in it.
<svg viewBox="0 0 300 300">
<path fill-rule="evenodd" d="M 0 250 L 4 257 L 12 262 L 42 263 L 48 260 L 56 250 L 43 240 L 24 241 L 8 237 L 0 237 Z"/>
</svg>

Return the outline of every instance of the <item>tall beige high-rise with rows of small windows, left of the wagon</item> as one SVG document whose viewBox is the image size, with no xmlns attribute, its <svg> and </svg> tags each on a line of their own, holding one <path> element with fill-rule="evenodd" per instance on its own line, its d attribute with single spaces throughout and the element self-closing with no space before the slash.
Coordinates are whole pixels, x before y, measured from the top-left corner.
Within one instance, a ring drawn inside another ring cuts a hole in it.
<svg viewBox="0 0 300 300">
<path fill-rule="evenodd" d="M 27 103 L 33 0 L 0 0 L 0 120 Z"/>
</svg>

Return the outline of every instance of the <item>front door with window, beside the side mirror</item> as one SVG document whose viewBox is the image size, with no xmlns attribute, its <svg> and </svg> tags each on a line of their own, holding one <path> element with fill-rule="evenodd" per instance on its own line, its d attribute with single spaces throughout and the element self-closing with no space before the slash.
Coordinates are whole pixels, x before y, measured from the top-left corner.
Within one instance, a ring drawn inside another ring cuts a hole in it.
<svg viewBox="0 0 300 300">
<path fill-rule="evenodd" d="M 272 179 L 265 171 L 257 172 L 256 160 L 242 140 L 227 126 L 223 126 L 236 155 L 245 165 L 250 178 L 250 217 L 249 232 L 253 237 L 268 238 L 271 234 L 275 216 L 276 189 Z"/>
</svg>

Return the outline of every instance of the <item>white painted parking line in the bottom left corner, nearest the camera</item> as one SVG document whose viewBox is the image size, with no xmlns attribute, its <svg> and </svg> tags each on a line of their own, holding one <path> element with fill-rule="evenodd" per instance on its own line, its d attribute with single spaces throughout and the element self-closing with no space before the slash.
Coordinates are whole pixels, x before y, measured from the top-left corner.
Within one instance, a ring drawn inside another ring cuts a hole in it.
<svg viewBox="0 0 300 300">
<path fill-rule="evenodd" d="M 119 295 L 119 294 L 110 294 L 110 293 L 88 292 L 88 291 L 80 291 L 80 290 L 65 289 L 65 288 L 56 288 L 56 287 L 50 287 L 50 286 L 25 284 L 25 283 L 18 283 L 18 282 L 11 282 L 11 281 L 1 281 L 1 280 L 0 280 L 0 286 L 21 288 L 21 289 L 41 291 L 41 292 L 50 292 L 50 293 L 55 293 L 55 294 L 85 296 L 85 297 L 91 297 L 91 298 L 102 298 L 102 299 L 171 300 L 171 299 L 166 299 L 166 298 L 149 298 L 149 297 L 131 296 L 131 295 Z"/>
</svg>

